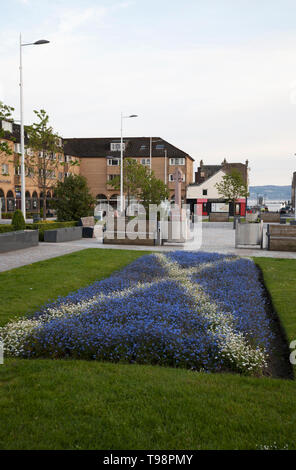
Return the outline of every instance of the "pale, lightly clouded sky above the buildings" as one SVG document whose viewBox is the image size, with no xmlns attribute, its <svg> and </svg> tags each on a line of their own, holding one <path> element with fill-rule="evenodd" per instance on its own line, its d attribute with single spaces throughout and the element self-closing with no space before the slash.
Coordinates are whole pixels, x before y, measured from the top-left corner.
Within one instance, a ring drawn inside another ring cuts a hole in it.
<svg viewBox="0 0 296 470">
<path fill-rule="evenodd" d="M 295 0 L 0 0 L 0 100 L 62 137 L 160 136 L 197 162 L 296 171 Z"/>
</svg>

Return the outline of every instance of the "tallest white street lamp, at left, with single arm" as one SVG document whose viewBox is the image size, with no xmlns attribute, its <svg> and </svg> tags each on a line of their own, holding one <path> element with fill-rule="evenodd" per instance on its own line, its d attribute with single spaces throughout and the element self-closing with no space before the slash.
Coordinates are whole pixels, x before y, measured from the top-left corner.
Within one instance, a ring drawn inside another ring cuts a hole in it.
<svg viewBox="0 0 296 470">
<path fill-rule="evenodd" d="M 25 133 L 24 133 L 24 111 L 23 111 L 23 59 L 22 48 L 24 46 L 40 46 L 48 44 L 46 39 L 39 41 L 22 43 L 22 35 L 20 34 L 20 114 L 21 114 L 21 207 L 24 219 L 26 220 L 26 176 L 25 176 Z"/>
</svg>

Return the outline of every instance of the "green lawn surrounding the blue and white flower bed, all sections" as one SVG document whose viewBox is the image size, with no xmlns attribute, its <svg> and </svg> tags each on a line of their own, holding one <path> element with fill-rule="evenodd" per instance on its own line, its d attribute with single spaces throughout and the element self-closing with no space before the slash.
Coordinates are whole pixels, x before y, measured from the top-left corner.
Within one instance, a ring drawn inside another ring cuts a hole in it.
<svg viewBox="0 0 296 470">
<path fill-rule="evenodd" d="M 109 275 L 142 254 L 86 250 L 3 273 L 1 295 L 10 298 L 1 307 L 3 318 Z M 294 338 L 296 260 L 256 262 Z M 38 290 L 34 301 L 27 292 L 32 273 Z M 60 285 L 65 275 L 69 279 Z M 23 282 L 14 288 L 17 276 Z M 11 288 L 17 298 L 7 291 Z M 0 366 L 0 384 L 1 449 L 296 449 L 295 381 L 9 359 Z"/>
</svg>

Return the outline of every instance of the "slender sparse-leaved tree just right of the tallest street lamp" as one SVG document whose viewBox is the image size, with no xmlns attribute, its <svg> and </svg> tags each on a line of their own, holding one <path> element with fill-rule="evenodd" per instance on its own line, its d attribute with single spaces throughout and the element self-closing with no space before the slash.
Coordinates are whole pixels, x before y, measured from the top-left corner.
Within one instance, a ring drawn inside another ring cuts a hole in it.
<svg viewBox="0 0 296 470">
<path fill-rule="evenodd" d="M 53 131 L 49 125 L 49 116 L 44 109 L 34 110 L 38 121 L 26 127 L 28 136 L 26 166 L 27 174 L 35 179 L 43 193 L 43 219 L 46 219 L 47 191 L 53 188 L 56 170 L 60 165 L 63 155 L 61 137 Z M 75 165 L 69 162 L 69 165 Z"/>
</svg>

